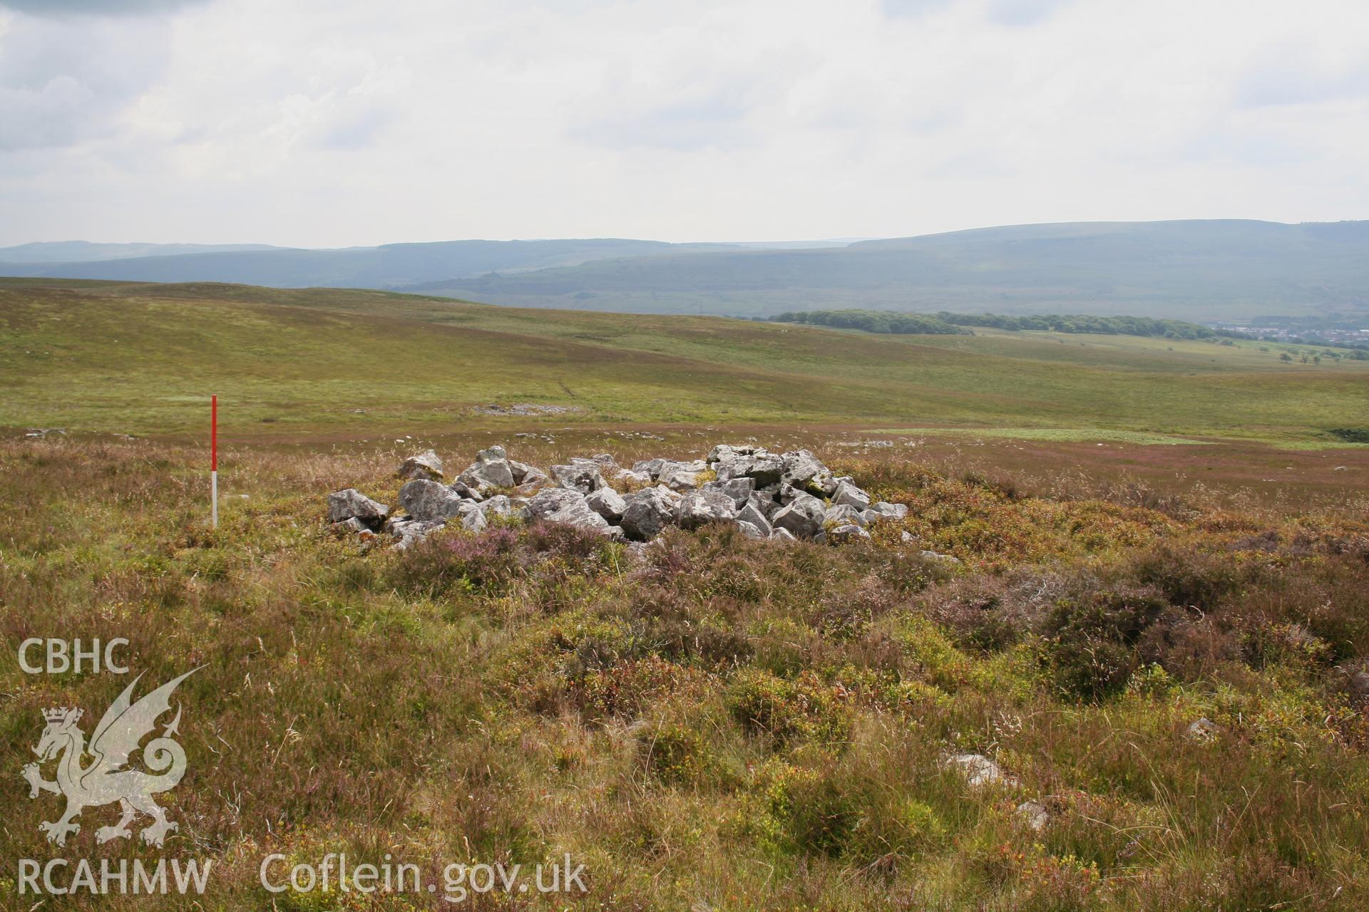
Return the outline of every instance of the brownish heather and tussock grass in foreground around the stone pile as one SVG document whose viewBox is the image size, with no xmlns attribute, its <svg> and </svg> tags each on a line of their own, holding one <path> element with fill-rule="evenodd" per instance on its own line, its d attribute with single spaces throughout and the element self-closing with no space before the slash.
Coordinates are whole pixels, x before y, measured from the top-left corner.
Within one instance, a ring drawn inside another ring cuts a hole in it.
<svg viewBox="0 0 1369 912">
<path fill-rule="evenodd" d="M 0 647 L 125 636 L 149 680 L 205 666 L 167 796 L 167 850 L 215 860 L 205 908 L 445 907 L 270 897 L 274 850 L 426 872 L 571 852 L 583 908 L 1369 904 L 1369 726 L 1347 688 L 1369 658 L 1369 526 L 1350 489 L 1273 509 L 831 448 L 909 518 L 869 544 L 702 528 L 641 555 L 517 524 L 408 554 L 329 535 L 323 495 L 393 498 L 402 450 L 233 450 L 208 531 L 193 450 L 0 443 Z M 26 762 L 42 707 L 96 712 L 115 684 L 4 663 L 0 767 Z M 1199 716 L 1214 738 L 1184 736 Z M 951 752 L 1016 782 L 972 790 Z M 53 807 L 15 777 L 0 855 L 49 857 Z M 97 849 L 105 816 L 86 811 L 75 853 L 156 855 Z"/>
</svg>

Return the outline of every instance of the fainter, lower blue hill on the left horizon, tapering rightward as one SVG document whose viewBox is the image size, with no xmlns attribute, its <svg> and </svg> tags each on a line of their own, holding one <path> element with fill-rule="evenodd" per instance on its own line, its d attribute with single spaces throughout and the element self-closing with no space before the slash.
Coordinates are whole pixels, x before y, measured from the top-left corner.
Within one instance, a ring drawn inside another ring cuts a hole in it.
<svg viewBox="0 0 1369 912">
<path fill-rule="evenodd" d="M 802 243 L 802 242 L 801 242 Z M 813 242 L 831 245 L 835 242 Z M 177 250 L 168 246 L 183 247 Z M 196 245 L 23 245 L 0 249 L 0 275 L 133 282 L 233 282 L 277 289 L 389 289 L 486 273 L 575 267 L 593 260 L 765 249 L 768 243 L 665 243 L 619 238 L 570 241 L 439 241 L 378 247 L 196 249 Z M 110 252 L 119 247 L 120 252 Z M 155 256 L 122 249 L 162 247 Z M 8 252 L 16 252 L 8 256 Z M 70 253 L 71 256 L 66 256 Z M 55 263 L 56 258 L 64 263 Z M 118 258 L 116 258 L 118 257 Z M 7 261 L 8 260 L 8 261 Z"/>
</svg>

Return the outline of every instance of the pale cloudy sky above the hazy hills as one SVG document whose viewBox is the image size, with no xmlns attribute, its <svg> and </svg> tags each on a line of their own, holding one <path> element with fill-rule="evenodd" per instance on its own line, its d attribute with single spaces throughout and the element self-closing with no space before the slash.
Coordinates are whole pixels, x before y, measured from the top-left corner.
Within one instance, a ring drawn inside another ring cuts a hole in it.
<svg viewBox="0 0 1369 912">
<path fill-rule="evenodd" d="M 1369 217 L 1364 0 L 0 0 L 0 245 Z"/>
</svg>

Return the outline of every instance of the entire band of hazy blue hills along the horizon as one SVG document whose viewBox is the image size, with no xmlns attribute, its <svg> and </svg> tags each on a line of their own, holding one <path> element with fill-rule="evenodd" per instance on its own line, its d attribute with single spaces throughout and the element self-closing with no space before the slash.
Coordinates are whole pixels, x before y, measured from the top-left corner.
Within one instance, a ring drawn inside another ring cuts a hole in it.
<svg viewBox="0 0 1369 912">
<path fill-rule="evenodd" d="M 55 253 L 63 246 L 0 250 L 0 273 L 361 287 L 635 313 L 773 316 L 872 308 L 1369 321 L 1369 222 L 1092 222 L 853 243 L 450 241 L 171 256 L 159 250 L 104 260 L 86 252 L 85 261 L 3 261 L 15 250 L 36 256 L 34 247 Z"/>
</svg>

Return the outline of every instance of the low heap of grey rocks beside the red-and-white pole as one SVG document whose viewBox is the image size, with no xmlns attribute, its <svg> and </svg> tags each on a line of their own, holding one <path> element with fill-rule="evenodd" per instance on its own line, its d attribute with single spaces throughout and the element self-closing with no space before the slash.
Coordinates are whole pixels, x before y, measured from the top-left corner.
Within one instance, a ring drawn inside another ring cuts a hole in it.
<svg viewBox="0 0 1369 912">
<path fill-rule="evenodd" d="M 705 522 L 732 522 L 753 539 L 846 541 L 869 537 L 872 522 L 908 515 L 905 505 L 872 503 L 808 450 L 719 444 L 705 459 L 643 459 L 631 468 L 598 454 L 543 472 L 496 446 L 475 454 L 450 484 L 444 483 L 442 459 L 428 450 L 405 459 L 397 476 L 405 479 L 402 515 L 348 488 L 329 495 L 333 528 L 385 532 L 398 547 L 449 522 L 478 532 L 496 515 L 565 522 L 634 541 Z"/>
</svg>

